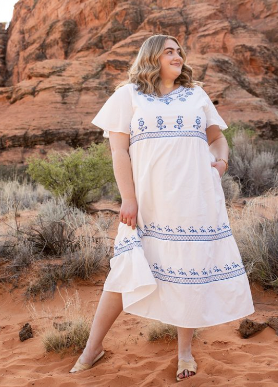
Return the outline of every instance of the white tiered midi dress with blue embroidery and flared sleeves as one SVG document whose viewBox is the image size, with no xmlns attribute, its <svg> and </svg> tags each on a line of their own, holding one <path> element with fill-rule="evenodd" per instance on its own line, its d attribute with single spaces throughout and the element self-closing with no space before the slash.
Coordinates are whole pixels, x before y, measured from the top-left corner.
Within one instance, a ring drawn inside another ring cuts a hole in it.
<svg viewBox="0 0 278 387">
<path fill-rule="evenodd" d="M 201 86 L 158 97 L 118 88 L 92 123 L 130 135 L 137 225 L 120 222 L 105 291 L 125 312 L 176 326 L 222 324 L 254 313 L 206 128 L 228 126 Z"/>
</svg>

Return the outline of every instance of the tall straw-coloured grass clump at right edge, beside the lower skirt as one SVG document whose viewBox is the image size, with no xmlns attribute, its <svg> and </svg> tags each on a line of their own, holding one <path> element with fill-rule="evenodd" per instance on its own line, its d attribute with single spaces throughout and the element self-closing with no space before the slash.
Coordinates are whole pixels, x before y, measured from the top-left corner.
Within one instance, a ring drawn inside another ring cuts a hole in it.
<svg viewBox="0 0 278 387">
<path fill-rule="evenodd" d="M 242 213 L 229 208 L 231 229 L 251 282 L 278 289 L 278 190 L 250 200 Z"/>
</svg>

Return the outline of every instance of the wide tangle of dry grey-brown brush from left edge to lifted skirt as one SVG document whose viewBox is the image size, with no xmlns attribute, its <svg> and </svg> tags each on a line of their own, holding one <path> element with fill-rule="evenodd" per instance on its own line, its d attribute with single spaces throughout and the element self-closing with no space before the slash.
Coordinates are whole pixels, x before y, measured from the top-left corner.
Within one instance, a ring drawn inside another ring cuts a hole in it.
<svg viewBox="0 0 278 387">
<path fill-rule="evenodd" d="M 53 296 L 59 284 L 93 279 L 94 275 L 107 272 L 110 223 L 102 214 L 93 219 L 80 209 L 68 206 L 63 198 L 42 204 L 38 215 L 24 227 L 15 214 L 8 233 L 0 236 L 5 278 L 13 282 L 28 270 L 25 297 L 45 299 Z"/>
</svg>

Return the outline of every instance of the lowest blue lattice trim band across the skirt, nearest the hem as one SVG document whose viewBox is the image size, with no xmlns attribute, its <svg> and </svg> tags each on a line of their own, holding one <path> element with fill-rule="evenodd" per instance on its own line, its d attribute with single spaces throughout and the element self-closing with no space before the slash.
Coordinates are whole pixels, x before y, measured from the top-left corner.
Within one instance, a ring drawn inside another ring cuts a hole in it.
<svg viewBox="0 0 278 387">
<path fill-rule="evenodd" d="M 181 284 L 185 284 L 185 285 L 202 284 L 202 283 L 209 283 L 209 282 L 214 282 L 214 281 L 226 280 L 229 278 L 241 276 L 244 273 L 246 273 L 245 268 L 242 267 L 240 269 L 234 270 L 233 272 L 215 274 L 215 275 L 212 275 L 210 277 L 182 278 L 182 277 L 167 276 L 165 274 L 157 273 L 157 272 L 154 272 L 152 270 L 153 276 L 159 280 L 167 281 L 167 282 L 174 282 L 174 283 L 181 283 Z"/>
</svg>

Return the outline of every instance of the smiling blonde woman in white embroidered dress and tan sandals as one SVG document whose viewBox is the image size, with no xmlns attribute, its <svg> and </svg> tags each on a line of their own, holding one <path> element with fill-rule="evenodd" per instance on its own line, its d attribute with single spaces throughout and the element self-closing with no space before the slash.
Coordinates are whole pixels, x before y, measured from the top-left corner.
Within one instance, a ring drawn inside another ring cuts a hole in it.
<svg viewBox="0 0 278 387">
<path fill-rule="evenodd" d="M 91 334 L 70 372 L 104 355 L 124 310 L 177 326 L 180 381 L 197 370 L 194 328 L 254 312 L 221 185 L 228 126 L 173 36 L 149 37 L 128 73 L 92 121 L 110 139 L 122 206 Z"/>
</svg>

